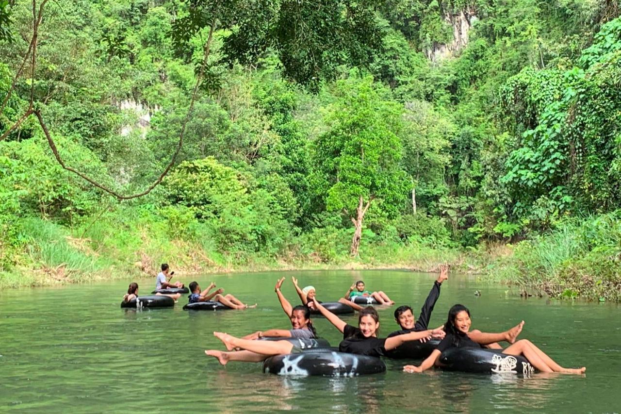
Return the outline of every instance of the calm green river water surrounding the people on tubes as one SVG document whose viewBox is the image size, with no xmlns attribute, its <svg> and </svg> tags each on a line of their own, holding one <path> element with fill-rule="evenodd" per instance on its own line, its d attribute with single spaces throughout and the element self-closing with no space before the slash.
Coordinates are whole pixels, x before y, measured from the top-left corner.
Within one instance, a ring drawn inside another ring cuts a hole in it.
<svg viewBox="0 0 621 414">
<path fill-rule="evenodd" d="M 473 328 L 501 331 L 520 320 L 520 338 L 538 344 L 563 366 L 587 374 L 480 375 L 401 372 L 404 361 L 387 360 L 386 374 L 354 378 L 279 377 L 261 364 L 222 367 L 204 349 L 222 344 L 213 331 L 241 336 L 258 329 L 289 328 L 274 293 L 297 303 L 290 279 L 312 284 L 320 300 L 335 300 L 360 278 L 384 290 L 418 315 L 435 275 L 392 270 L 265 272 L 205 275 L 256 309 L 188 312 L 182 297 L 173 309 L 122 310 L 124 282 L 0 292 L 0 412 L 576 412 L 621 411 L 621 318 L 619 305 L 551 301 L 507 295 L 474 276 L 451 275 L 432 316 L 470 308 Z M 184 280 L 189 283 L 191 280 Z M 155 280 L 140 281 L 147 295 Z M 475 290 L 481 296 L 474 295 Z M 393 308 L 380 309 L 382 333 L 397 328 Z M 345 318 L 355 324 L 355 316 Z M 338 346 L 340 333 L 314 320 L 320 336 Z"/>
</svg>

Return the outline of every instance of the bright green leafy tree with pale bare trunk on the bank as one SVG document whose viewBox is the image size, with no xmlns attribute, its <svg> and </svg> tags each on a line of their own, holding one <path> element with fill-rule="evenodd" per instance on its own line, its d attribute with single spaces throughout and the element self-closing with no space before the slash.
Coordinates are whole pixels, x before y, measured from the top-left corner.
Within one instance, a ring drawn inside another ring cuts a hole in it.
<svg viewBox="0 0 621 414">
<path fill-rule="evenodd" d="M 409 180 L 399 168 L 403 108 L 384 92 L 370 76 L 338 81 L 326 118 L 330 130 L 313 147 L 312 185 L 327 209 L 353 223 L 353 256 L 371 203 L 395 216 L 409 194 Z"/>
</svg>

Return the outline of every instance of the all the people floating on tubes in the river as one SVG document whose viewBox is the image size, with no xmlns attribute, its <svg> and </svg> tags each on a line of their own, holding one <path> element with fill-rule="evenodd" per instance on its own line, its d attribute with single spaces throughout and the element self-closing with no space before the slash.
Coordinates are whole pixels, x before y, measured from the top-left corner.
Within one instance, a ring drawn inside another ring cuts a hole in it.
<svg viewBox="0 0 621 414">
<path fill-rule="evenodd" d="M 157 278 L 158 287 L 183 287 L 183 284 L 180 282 L 170 283 L 171 275 L 168 274 L 168 265 L 162 265 L 162 273 Z M 501 352 L 505 356 L 521 356 L 527 359 L 540 372 L 561 372 L 566 374 L 582 374 L 585 372 L 585 367 L 578 369 L 561 367 L 532 342 L 527 339 L 518 340 L 517 337 L 524 327 L 524 321 L 501 333 L 484 333 L 478 329 L 471 329 L 470 311 L 466 306 L 454 305 L 448 311 L 446 323 L 438 328 L 430 329 L 428 324 L 433 307 L 438 297 L 440 297 L 440 287 L 447 279 L 448 266 L 442 265 L 440 267 L 440 274 L 437 280 L 433 282 L 433 287 L 421 308 L 419 318 L 415 318 L 411 306 L 399 306 L 394 311 L 394 319 L 400 329 L 388 334 L 386 338 L 379 338 L 379 315 L 377 310 L 373 306 L 361 306 L 355 302 L 358 301 L 356 300 L 357 297 L 364 297 L 369 298 L 369 301 L 372 298 L 379 306 L 394 305 L 394 301 L 386 293 L 365 290 L 365 283 L 361 280 L 351 285 L 348 292 L 338 300 L 338 303 L 351 306 L 351 308 L 358 311 L 358 326 L 352 326 L 328 310 L 322 305 L 321 301 L 317 300 L 317 291 L 314 287 L 299 288 L 297 279 L 294 277 L 292 277 L 292 283 L 302 301 L 302 305 L 292 306 L 281 292 L 281 286 L 284 282 L 283 277 L 276 282 L 274 292 L 276 292 L 280 305 L 291 322 L 291 329 L 256 331 L 242 338 L 237 338 L 227 333 L 214 332 L 214 336 L 222 341 L 226 350 L 208 349 L 205 353 L 208 356 L 215 357 L 222 365 L 226 365 L 231 361 L 261 362 L 272 356 L 302 353 L 303 350 L 296 346 L 296 341 L 291 341 L 291 338 L 318 338 L 317 331 L 311 321 L 311 312 L 314 311 L 324 316 L 343 334 L 343 340 L 338 345 L 339 352 L 390 358 L 397 357 L 400 347 L 405 347 L 411 341 L 424 343 L 430 339 L 440 340 L 435 349 L 422 361 L 422 364 L 419 366 L 406 365 L 403 367 L 405 372 L 423 372 L 431 369 L 438 364 L 442 352 L 447 349 L 461 347 L 496 349 L 497 352 Z M 132 283 L 132 285 L 135 285 L 135 283 Z M 133 294 L 137 295 L 138 287 L 135 285 L 134 290 L 132 290 L 132 285 L 130 285 L 124 300 L 131 298 Z M 209 293 L 214 287 L 215 285 L 212 283 L 205 292 L 201 292 L 198 283 L 190 283 L 191 295 L 189 300 L 191 302 L 219 301 L 233 309 L 248 307 L 248 305 L 245 305 L 232 295 L 223 296 L 221 290 Z M 258 340 L 263 337 L 270 337 L 271 340 Z M 499 344 L 500 342 L 509 343 L 509 346 L 503 348 Z"/>
</svg>

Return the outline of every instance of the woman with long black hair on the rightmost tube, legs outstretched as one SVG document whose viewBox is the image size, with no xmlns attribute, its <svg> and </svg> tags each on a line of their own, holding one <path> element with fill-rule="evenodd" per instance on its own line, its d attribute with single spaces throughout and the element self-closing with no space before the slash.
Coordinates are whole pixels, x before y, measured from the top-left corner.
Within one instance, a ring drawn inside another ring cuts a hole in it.
<svg viewBox="0 0 621 414">
<path fill-rule="evenodd" d="M 420 366 L 406 365 L 403 370 L 406 372 L 423 372 L 424 370 L 433 367 L 440 355 L 445 349 L 450 347 L 481 347 L 480 344 L 474 342 L 469 338 L 468 333 L 470 331 L 470 311 L 466 306 L 454 305 L 450 311 L 448 311 L 448 320 L 444 325 L 444 331 L 446 332 L 445 338 L 438 344 L 432 354 L 420 364 Z M 518 327 L 519 331 L 522 330 L 524 321 L 522 321 Z M 519 332 L 518 332 L 519 333 Z M 494 334 L 489 334 L 490 336 Z M 496 334 L 497 335 L 497 334 Z M 533 367 L 537 368 L 541 372 L 562 372 L 564 374 L 583 374 L 586 370 L 582 368 L 564 368 L 557 364 L 553 359 L 539 349 L 535 344 L 528 341 L 528 339 L 520 339 L 519 341 L 506 347 L 503 354 L 524 356 Z"/>
</svg>

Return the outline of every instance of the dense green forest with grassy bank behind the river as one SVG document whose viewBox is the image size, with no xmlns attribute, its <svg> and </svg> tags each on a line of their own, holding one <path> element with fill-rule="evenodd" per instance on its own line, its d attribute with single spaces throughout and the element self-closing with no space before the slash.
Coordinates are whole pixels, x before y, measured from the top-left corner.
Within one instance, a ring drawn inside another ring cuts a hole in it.
<svg viewBox="0 0 621 414">
<path fill-rule="evenodd" d="M 0 285 L 448 260 L 621 300 L 620 11 L 0 0 Z"/>
</svg>

